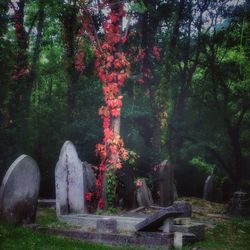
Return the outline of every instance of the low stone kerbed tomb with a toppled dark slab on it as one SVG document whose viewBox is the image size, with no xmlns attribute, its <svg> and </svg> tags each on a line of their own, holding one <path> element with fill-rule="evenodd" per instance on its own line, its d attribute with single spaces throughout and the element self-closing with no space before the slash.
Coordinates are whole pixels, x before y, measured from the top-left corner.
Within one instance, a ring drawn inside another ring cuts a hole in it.
<svg viewBox="0 0 250 250">
<path fill-rule="evenodd" d="M 152 208 L 156 207 L 152 206 Z M 143 217 L 142 214 L 139 216 L 131 213 L 130 216 L 76 214 L 60 215 L 58 218 L 60 221 L 79 226 L 80 232 L 76 232 L 79 239 L 100 240 L 100 242 L 112 242 L 112 244 L 125 244 L 125 240 L 129 244 L 169 247 L 173 245 L 174 232 L 178 232 L 177 236 L 181 235 L 175 239 L 181 245 L 203 238 L 198 233 L 204 232 L 204 225 L 202 228 L 199 225 L 201 232 L 197 232 L 198 225 L 191 222 L 190 218 L 186 218 L 191 216 L 190 204 L 178 202 L 171 207 L 158 207 L 157 209 L 160 210 L 155 214 L 151 216 L 144 214 Z M 173 221 L 173 218 L 177 216 L 184 217 Z M 172 225 L 166 231 L 163 227 L 167 220 L 172 220 Z M 60 234 L 60 232 L 58 233 Z M 64 235 L 64 232 L 62 233 Z"/>
</svg>

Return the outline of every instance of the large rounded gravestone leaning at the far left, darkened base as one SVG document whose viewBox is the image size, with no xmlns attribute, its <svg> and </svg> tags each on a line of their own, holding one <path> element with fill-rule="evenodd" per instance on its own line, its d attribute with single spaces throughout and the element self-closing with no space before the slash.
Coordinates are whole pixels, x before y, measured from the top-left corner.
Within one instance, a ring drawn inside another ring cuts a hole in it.
<svg viewBox="0 0 250 250">
<path fill-rule="evenodd" d="M 40 172 L 36 162 L 27 155 L 18 157 L 6 172 L 0 188 L 1 220 L 34 223 L 40 187 Z"/>
</svg>

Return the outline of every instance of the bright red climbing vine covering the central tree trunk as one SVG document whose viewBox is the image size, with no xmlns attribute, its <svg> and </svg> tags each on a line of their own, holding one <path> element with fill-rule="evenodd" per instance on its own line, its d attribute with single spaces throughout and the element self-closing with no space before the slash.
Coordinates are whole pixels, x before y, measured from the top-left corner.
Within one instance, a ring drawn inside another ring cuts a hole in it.
<svg viewBox="0 0 250 250">
<path fill-rule="evenodd" d="M 103 177 L 105 171 L 120 169 L 122 160 L 127 158 L 127 151 L 114 123 L 119 119 L 122 108 L 121 87 L 129 76 L 130 63 L 126 54 L 121 50 L 126 37 L 122 32 L 122 19 L 125 16 L 124 3 L 117 1 L 101 1 L 101 6 L 108 9 L 102 23 L 104 36 L 98 39 L 93 29 L 90 15 L 82 10 L 82 26 L 88 33 L 90 40 L 95 41 L 95 68 L 100 81 L 103 84 L 105 105 L 99 109 L 99 115 L 103 120 L 104 137 L 100 144 L 96 145 L 96 153 L 101 158 L 99 172 L 96 181 L 96 198 L 98 207 L 103 209 L 105 199 L 103 197 Z M 83 17 L 85 14 L 85 18 Z M 90 28 L 92 25 L 92 29 Z"/>
</svg>

